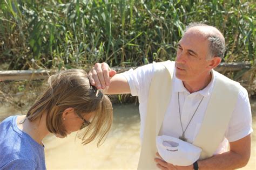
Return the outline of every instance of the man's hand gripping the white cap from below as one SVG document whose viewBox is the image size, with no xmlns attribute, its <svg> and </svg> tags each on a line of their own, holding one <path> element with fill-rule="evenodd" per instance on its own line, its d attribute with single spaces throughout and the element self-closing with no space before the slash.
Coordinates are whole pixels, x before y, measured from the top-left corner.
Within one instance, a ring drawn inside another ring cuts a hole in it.
<svg viewBox="0 0 256 170">
<path fill-rule="evenodd" d="M 160 158 L 155 158 L 154 161 L 157 162 L 157 167 L 159 169 L 162 170 L 170 170 L 170 169 L 184 169 L 184 170 L 192 170 L 194 167 L 193 165 L 190 166 L 175 166 L 172 164 L 167 163 L 166 161 L 163 160 L 163 158 L 161 158 L 161 156 L 159 155 L 159 153 L 157 152 L 156 155 Z"/>
</svg>

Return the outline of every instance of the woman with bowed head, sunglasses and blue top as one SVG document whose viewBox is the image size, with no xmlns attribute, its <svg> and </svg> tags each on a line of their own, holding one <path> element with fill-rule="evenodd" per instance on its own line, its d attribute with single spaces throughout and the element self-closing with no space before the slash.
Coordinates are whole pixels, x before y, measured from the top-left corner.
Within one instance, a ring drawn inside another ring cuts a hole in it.
<svg viewBox="0 0 256 170">
<path fill-rule="evenodd" d="M 59 138 L 85 129 L 83 144 L 98 139 L 112 124 L 109 98 L 90 86 L 84 70 L 69 69 L 49 77 L 49 87 L 28 114 L 10 116 L 0 124 L 0 169 L 46 169 L 42 139 Z"/>
</svg>

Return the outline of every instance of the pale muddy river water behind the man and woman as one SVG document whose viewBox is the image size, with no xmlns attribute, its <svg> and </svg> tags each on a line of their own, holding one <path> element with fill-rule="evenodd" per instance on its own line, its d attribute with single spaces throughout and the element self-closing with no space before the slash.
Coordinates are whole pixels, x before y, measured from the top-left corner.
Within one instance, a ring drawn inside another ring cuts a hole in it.
<svg viewBox="0 0 256 170">
<path fill-rule="evenodd" d="M 252 152 L 248 165 L 242 169 L 256 169 L 256 101 L 251 102 L 253 114 Z M 48 169 L 136 169 L 139 160 L 139 114 L 138 107 L 114 105 L 114 121 L 105 143 L 81 145 L 76 133 L 59 139 L 44 139 L 46 167 Z M 8 114 L 6 114 L 8 113 Z M 1 107 L 0 121 L 9 114 L 18 114 L 11 107 Z"/>
</svg>

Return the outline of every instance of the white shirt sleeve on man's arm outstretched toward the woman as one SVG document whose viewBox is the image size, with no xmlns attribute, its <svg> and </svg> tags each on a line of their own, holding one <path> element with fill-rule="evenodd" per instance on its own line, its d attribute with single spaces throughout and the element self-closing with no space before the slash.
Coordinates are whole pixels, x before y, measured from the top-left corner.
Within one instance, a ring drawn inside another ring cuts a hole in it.
<svg viewBox="0 0 256 170">
<path fill-rule="evenodd" d="M 145 96 L 149 91 L 150 83 L 153 77 L 153 64 L 130 69 L 122 73 L 129 83 L 132 96 Z"/>
</svg>

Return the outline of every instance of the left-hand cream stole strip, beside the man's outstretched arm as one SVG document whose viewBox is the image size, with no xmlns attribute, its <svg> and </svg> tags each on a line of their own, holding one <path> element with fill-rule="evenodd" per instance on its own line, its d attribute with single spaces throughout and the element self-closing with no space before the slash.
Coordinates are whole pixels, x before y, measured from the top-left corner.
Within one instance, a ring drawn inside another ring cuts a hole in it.
<svg viewBox="0 0 256 170">
<path fill-rule="evenodd" d="M 167 65 L 168 62 L 171 61 L 153 63 L 166 66 L 155 67 L 159 69 L 155 70 L 150 84 L 149 101 L 147 103 L 147 115 L 138 169 L 157 169 L 156 162 L 154 162 L 157 152 L 156 137 L 158 136 L 167 106 L 171 100 L 171 95 L 169 94 L 171 94 L 172 90 L 173 69 L 170 69 L 170 64 Z"/>
</svg>

